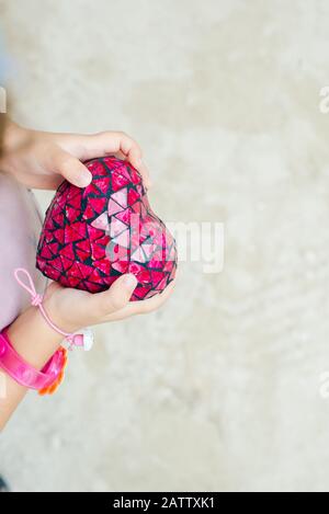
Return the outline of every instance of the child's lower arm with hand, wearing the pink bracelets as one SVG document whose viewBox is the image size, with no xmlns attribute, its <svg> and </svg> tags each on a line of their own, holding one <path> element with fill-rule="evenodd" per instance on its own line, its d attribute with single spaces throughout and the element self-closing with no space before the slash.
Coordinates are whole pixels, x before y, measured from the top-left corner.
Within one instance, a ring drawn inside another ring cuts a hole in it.
<svg viewBox="0 0 329 514">
<path fill-rule="evenodd" d="M 48 287 L 44 307 L 53 322 L 67 332 L 76 332 L 82 327 L 109 321 L 118 321 L 135 315 L 159 309 L 169 298 L 174 287 L 148 300 L 129 302 L 137 284 L 134 275 L 120 277 L 112 287 L 98 294 L 64 288 L 57 283 Z M 15 351 L 33 367 L 42 369 L 54 355 L 63 336 L 47 325 L 36 307 L 30 307 L 19 316 L 8 330 Z M 3 373 L 0 368 L 0 373 Z M 5 395 L 0 397 L 0 431 L 23 399 L 26 389 L 8 375 L 4 375 Z"/>
</svg>

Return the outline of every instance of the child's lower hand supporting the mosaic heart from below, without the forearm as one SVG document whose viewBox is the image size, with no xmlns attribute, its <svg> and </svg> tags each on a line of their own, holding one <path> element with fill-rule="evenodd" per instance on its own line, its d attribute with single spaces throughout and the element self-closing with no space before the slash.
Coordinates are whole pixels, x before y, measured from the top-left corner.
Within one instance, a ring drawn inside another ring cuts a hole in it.
<svg viewBox="0 0 329 514">
<path fill-rule="evenodd" d="M 54 282 L 47 288 L 44 306 L 58 327 L 76 332 L 90 324 L 118 321 L 159 309 L 170 297 L 175 282 L 150 299 L 129 301 L 136 285 L 137 279 L 132 274 L 121 276 L 109 290 L 97 294 L 61 287 Z"/>
</svg>

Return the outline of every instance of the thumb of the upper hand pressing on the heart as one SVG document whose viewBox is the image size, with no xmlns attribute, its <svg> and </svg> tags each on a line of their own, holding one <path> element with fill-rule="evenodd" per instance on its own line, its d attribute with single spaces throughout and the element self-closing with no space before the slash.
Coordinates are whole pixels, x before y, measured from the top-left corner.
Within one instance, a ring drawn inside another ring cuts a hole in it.
<svg viewBox="0 0 329 514">
<path fill-rule="evenodd" d="M 52 157 L 52 165 L 55 173 L 60 173 L 67 181 L 78 187 L 87 187 L 91 182 L 92 175 L 86 165 L 60 148 Z"/>
</svg>

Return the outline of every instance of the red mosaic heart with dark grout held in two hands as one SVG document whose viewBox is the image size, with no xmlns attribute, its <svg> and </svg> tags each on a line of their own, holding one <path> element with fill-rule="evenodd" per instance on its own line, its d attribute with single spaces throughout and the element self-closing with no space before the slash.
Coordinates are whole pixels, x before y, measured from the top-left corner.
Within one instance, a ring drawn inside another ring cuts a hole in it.
<svg viewBox="0 0 329 514">
<path fill-rule="evenodd" d="M 36 266 L 90 293 L 109 289 L 124 273 L 138 279 L 133 301 L 161 293 L 175 276 L 175 242 L 151 210 L 140 174 L 115 157 L 86 165 L 91 184 L 64 181 L 47 209 Z"/>
</svg>

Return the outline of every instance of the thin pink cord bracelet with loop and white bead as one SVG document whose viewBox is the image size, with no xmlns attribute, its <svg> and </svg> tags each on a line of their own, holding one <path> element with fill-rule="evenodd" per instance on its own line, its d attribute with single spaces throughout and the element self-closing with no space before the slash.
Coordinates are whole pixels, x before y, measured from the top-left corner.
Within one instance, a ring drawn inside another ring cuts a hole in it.
<svg viewBox="0 0 329 514">
<path fill-rule="evenodd" d="M 24 275 L 27 277 L 29 285 L 24 284 L 24 282 L 22 282 L 22 279 L 19 277 L 20 273 L 24 273 Z M 38 307 L 44 320 L 46 321 L 46 323 L 53 330 L 55 330 L 55 332 L 58 332 L 59 334 L 64 335 L 65 341 L 67 341 L 68 344 L 69 344 L 69 350 L 71 350 L 72 346 L 80 346 L 80 347 L 83 347 L 83 350 L 86 350 L 86 351 L 91 350 L 91 347 L 93 345 L 93 334 L 92 334 L 90 329 L 83 329 L 83 330 L 81 330 L 80 333 L 64 332 L 55 323 L 53 323 L 53 321 L 48 317 L 47 312 L 45 311 L 45 308 L 42 304 L 43 302 L 43 296 L 36 293 L 32 276 L 30 275 L 27 270 L 25 270 L 24 267 L 18 267 L 14 271 L 14 276 L 15 276 L 15 279 L 18 281 L 18 283 L 22 287 L 24 287 L 24 289 L 26 289 L 27 293 L 30 293 L 31 299 L 32 299 L 31 304 L 35 307 Z"/>
</svg>

